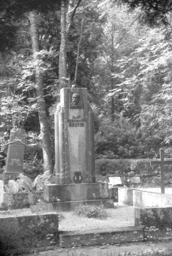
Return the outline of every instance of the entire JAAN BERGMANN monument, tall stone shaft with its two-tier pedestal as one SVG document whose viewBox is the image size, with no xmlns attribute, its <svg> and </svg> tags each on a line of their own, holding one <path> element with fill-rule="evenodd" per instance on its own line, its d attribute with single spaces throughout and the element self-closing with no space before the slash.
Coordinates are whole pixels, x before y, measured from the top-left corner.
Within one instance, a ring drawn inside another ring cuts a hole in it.
<svg viewBox="0 0 172 256">
<path fill-rule="evenodd" d="M 45 185 L 44 199 L 69 210 L 84 203 L 109 204 L 108 184 L 95 182 L 94 117 L 87 89 L 60 90 L 54 123 L 56 184 Z"/>
</svg>

